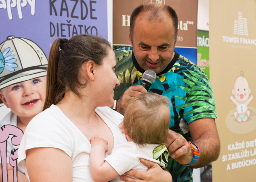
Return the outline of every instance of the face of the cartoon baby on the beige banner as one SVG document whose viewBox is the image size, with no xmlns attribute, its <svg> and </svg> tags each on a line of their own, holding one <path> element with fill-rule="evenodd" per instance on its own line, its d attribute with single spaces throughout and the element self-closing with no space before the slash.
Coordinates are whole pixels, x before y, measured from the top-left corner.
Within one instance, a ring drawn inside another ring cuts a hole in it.
<svg viewBox="0 0 256 182">
<path fill-rule="evenodd" d="M 234 95 L 237 102 L 245 102 L 248 100 L 251 94 L 248 81 L 244 77 L 237 77 L 235 80 L 234 88 L 232 89 L 232 95 Z"/>
</svg>

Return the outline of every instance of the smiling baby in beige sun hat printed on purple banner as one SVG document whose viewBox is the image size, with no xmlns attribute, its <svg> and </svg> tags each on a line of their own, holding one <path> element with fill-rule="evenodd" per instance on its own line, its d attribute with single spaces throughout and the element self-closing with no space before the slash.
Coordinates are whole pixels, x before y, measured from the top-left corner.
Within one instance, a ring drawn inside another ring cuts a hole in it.
<svg viewBox="0 0 256 182">
<path fill-rule="evenodd" d="M 25 171 L 13 162 L 19 143 L 12 138 L 20 137 L 20 141 L 27 124 L 43 109 L 47 64 L 45 53 L 29 39 L 8 36 L 0 44 L 0 106 L 11 109 L 0 122 L 3 181 L 10 177 L 14 181 L 27 181 Z"/>
</svg>

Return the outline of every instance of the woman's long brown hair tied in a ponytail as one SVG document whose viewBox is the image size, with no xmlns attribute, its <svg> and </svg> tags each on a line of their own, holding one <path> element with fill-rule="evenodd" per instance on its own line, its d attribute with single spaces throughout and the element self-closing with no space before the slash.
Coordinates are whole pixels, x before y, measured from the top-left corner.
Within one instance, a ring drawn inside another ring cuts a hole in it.
<svg viewBox="0 0 256 182">
<path fill-rule="evenodd" d="M 60 50 L 60 46 L 62 50 Z M 67 90 L 81 97 L 78 88 L 85 88 L 87 81 L 80 82 L 80 70 L 83 63 L 92 60 L 102 64 L 111 49 L 108 41 L 95 35 L 76 35 L 67 39 L 58 38 L 50 48 L 46 100 L 43 110 L 63 99 Z"/>
</svg>

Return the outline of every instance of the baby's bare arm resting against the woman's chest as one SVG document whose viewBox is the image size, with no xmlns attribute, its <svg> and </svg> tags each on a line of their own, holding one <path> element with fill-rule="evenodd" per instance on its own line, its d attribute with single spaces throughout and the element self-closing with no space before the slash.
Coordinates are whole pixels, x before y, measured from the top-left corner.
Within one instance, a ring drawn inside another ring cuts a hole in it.
<svg viewBox="0 0 256 182">
<path fill-rule="evenodd" d="M 108 142 L 97 135 L 91 138 L 92 150 L 90 152 L 89 169 L 95 182 L 108 182 L 119 174 L 105 161 L 105 152 L 108 151 Z"/>
</svg>

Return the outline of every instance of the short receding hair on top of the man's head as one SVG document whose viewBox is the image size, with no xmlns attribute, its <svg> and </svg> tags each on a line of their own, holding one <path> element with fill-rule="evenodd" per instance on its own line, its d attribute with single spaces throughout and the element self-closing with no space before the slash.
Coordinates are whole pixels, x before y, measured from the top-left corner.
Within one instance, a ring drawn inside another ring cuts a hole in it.
<svg viewBox="0 0 256 182">
<path fill-rule="evenodd" d="M 134 29 L 134 24 L 136 21 L 136 18 L 139 16 L 140 13 L 150 11 L 151 14 L 149 16 L 149 20 L 151 19 L 161 19 L 161 14 L 162 12 L 167 12 L 170 14 L 171 19 L 173 20 L 173 26 L 175 28 L 175 39 L 177 38 L 178 35 L 178 16 L 175 10 L 170 7 L 169 5 L 162 5 L 159 3 L 146 3 L 143 5 L 140 5 L 136 7 L 131 16 L 130 16 L 130 36 L 133 42 L 133 29 Z M 175 41 L 176 42 L 176 41 Z"/>
</svg>

